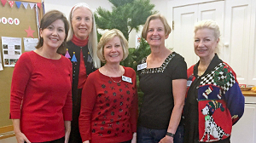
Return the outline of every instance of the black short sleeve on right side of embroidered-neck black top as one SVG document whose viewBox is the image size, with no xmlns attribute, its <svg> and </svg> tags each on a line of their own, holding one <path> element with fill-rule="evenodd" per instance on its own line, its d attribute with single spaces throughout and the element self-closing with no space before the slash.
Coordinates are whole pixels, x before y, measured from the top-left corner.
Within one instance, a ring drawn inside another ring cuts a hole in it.
<svg viewBox="0 0 256 143">
<path fill-rule="evenodd" d="M 176 57 L 173 57 L 176 58 Z M 174 60 L 174 59 L 173 59 Z M 187 64 L 183 57 L 178 57 L 172 65 L 172 79 L 187 79 Z"/>
</svg>

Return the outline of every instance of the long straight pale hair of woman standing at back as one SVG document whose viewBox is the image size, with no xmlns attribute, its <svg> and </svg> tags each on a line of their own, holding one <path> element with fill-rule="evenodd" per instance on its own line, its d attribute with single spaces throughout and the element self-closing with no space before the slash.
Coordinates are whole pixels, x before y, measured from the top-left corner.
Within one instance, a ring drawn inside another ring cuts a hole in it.
<svg viewBox="0 0 256 143">
<path fill-rule="evenodd" d="M 96 68 L 99 68 L 99 67 L 101 67 L 101 61 L 98 59 L 97 54 L 96 54 L 97 43 L 98 43 L 97 42 L 96 22 L 95 22 L 94 14 L 88 4 L 77 3 L 76 5 L 73 6 L 73 9 L 71 9 L 70 14 L 69 14 L 70 28 L 69 28 L 69 35 L 67 37 L 67 41 L 69 41 L 73 38 L 73 26 L 72 26 L 73 12 L 79 8 L 85 8 L 85 9 L 90 10 L 91 18 L 92 18 L 92 28 L 91 28 L 89 38 L 88 38 L 88 49 L 89 49 L 90 55 L 93 59 L 94 66 Z"/>
</svg>

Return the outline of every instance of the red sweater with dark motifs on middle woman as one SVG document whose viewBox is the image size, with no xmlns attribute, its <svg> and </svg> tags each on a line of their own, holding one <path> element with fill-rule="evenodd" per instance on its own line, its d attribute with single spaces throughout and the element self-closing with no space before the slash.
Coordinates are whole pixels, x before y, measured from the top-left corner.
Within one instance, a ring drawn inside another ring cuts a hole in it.
<svg viewBox="0 0 256 143">
<path fill-rule="evenodd" d="M 79 117 L 83 141 L 123 142 L 131 140 L 132 134 L 136 132 L 136 73 L 130 67 L 124 68 L 124 76 L 131 77 L 132 83 L 120 81 L 121 77 L 112 77 L 112 80 L 99 70 L 92 72 L 87 78 L 82 91 Z"/>
</svg>

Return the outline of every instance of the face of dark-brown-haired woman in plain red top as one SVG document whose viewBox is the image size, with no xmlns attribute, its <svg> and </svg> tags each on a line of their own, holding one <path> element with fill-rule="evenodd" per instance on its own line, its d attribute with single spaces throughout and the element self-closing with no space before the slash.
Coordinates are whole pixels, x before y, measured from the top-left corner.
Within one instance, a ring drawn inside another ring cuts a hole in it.
<svg viewBox="0 0 256 143">
<path fill-rule="evenodd" d="M 64 22 L 55 20 L 44 30 L 40 29 L 40 37 L 44 39 L 43 46 L 58 49 L 66 37 Z"/>
</svg>

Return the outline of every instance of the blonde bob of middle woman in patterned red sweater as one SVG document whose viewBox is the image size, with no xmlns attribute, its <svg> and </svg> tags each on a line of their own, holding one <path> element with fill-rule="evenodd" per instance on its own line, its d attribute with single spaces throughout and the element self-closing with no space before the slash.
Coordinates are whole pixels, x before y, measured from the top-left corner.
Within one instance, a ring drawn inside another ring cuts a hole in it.
<svg viewBox="0 0 256 143">
<path fill-rule="evenodd" d="M 128 54 L 129 54 L 128 41 L 126 40 L 124 34 L 117 29 L 112 29 L 110 31 L 106 31 L 102 35 L 100 42 L 98 43 L 98 46 L 97 46 L 97 55 L 98 55 L 99 59 L 102 60 L 103 63 L 106 62 L 106 59 L 104 57 L 104 46 L 106 45 L 106 43 L 108 43 L 110 40 L 112 40 L 113 37 L 119 37 L 119 39 L 120 39 L 122 49 L 124 52 L 122 60 L 125 60 L 125 58 L 127 58 Z"/>
</svg>

